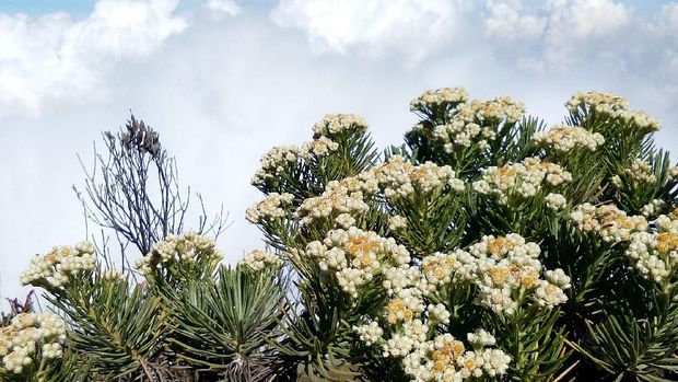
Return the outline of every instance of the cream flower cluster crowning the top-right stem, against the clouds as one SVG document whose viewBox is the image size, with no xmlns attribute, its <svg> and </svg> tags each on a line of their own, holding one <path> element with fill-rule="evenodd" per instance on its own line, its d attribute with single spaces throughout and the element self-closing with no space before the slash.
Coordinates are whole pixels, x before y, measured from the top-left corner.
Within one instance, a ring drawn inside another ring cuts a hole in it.
<svg viewBox="0 0 678 382">
<path fill-rule="evenodd" d="M 659 121 L 644 112 L 629 111 L 629 101 L 627 99 L 603 92 L 578 92 L 565 103 L 565 107 L 572 113 L 576 113 L 580 109 L 595 111 L 612 118 L 620 118 L 627 123 L 632 123 L 641 130 L 655 131 L 661 128 Z"/>
</svg>

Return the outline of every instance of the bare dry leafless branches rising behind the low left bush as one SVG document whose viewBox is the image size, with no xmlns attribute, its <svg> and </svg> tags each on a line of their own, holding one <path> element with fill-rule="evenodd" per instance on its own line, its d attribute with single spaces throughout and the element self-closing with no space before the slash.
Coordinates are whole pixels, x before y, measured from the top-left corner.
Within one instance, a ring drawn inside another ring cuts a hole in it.
<svg viewBox="0 0 678 382">
<path fill-rule="evenodd" d="M 160 135 L 133 115 L 121 131 L 105 131 L 103 138 L 105 150 L 100 152 L 94 144 L 91 170 L 78 157 L 85 180 L 83 190 L 73 189 L 85 219 L 115 232 L 122 266 L 129 269 L 125 256 L 128 245 L 145 255 L 154 243 L 184 231 L 190 187 L 180 188 L 176 160 L 162 148 Z M 196 231 L 219 236 L 227 227 L 227 215 L 222 207 L 208 220 L 199 194 L 198 199 L 201 215 Z"/>
</svg>

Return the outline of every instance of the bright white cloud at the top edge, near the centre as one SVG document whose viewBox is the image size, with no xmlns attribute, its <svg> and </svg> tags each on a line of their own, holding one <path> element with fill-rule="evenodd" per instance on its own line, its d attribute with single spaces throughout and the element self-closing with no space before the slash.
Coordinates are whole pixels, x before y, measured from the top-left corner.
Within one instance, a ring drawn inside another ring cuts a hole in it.
<svg viewBox="0 0 678 382">
<path fill-rule="evenodd" d="M 463 0 L 281 0 L 281 26 L 304 31 L 320 51 L 394 50 L 417 62 L 454 39 L 472 2 Z"/>
</svg>

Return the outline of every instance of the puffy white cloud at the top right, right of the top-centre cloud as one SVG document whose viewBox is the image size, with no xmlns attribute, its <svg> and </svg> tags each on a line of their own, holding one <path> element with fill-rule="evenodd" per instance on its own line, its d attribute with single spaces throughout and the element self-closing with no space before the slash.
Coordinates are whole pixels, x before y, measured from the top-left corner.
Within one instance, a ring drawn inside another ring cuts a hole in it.
<svg viewBox="0 0 678 382">
<path fill-rule="evenodd" d="M 490 43 L 516 56 L 523 69 L 562 69 L 592 55 L 619 55 L 626 47 L 618 42 L 632 19 L 632 9 L 613 0 L 550 0 L 533 7 L 488 0 L 484 30 Z"/>
</svg>

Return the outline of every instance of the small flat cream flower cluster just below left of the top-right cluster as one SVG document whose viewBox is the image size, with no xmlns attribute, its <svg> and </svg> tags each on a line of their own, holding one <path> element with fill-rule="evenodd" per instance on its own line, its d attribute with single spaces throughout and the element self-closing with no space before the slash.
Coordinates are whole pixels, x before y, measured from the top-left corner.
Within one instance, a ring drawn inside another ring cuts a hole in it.
<svg viewBox="0 0 678 382">
<path fill-rule="evenodd" d="M 538 131 L 533 140 L 539 146 L 563 154 L 581 147 L 594 151 L 605 143 L 605 138 L 599 132 L 591 132 L 580 126 L 554 126 L 548 131 Z"/>
</svg>

